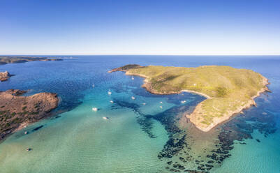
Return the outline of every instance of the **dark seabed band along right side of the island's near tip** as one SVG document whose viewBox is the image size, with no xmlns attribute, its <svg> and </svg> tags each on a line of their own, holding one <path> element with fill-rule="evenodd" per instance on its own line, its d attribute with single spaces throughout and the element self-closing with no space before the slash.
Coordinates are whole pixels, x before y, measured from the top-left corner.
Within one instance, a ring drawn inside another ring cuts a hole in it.
<svg viewBox="0 0 280 173">
<path fill-rule="evenodd" d="M 274 133 L 277 130 L 274 115 L 267 113 L 263 116 L 260 113 L 262 110 L 263 107 L 253 107 L 244 111 L 245 116 L 237 115 L 223 124 L 219 133 L 219 144 L 212 150 L 212 154 L 207 155 L 207 158 L 211 158 L 216 164 L 221 164 L 224 159 L 231 156 L 229 151 L 233 149 L 235 141 L 240 141 L 237 144 L 246 144 L 242 141 L 253 139 L 251 136 L 253 130 L 258 130 L 264 136 Z M 256 141 L 260 142 L 258 139 Z M 209 165 L 206 166 L 209 167 Z"/>
</svg>

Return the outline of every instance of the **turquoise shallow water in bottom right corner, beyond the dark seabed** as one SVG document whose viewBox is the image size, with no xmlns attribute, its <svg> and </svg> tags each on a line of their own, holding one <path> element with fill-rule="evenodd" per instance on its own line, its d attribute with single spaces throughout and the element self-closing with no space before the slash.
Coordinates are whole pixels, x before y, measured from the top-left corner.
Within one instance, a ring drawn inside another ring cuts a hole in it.
<svg viewBox="0 0 280 173">
<path fill-rule="evenodd" d="M 235 148 L 231 151 L 232 156 L 214 172 L 279 172 L 279 130 L 269 137 L 254 131 L 253 137 L 260 142 L 244 140 L 246 145 L 235 144 Z"/>
</svg>

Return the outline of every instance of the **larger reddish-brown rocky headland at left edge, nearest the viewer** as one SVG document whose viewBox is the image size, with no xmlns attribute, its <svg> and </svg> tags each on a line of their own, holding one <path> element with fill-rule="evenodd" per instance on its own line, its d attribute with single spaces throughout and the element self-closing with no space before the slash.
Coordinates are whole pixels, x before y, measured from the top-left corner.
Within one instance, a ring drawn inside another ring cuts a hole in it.
<svg viewBox="0 0 280 173">
<path fill-rule="evenodd" d="M 27 91 L 0 91 L 0 141 L 16 130 L 51 115 L 59 103 L 56 93 L 36 93 L 21 96 Z"/>
</svg>

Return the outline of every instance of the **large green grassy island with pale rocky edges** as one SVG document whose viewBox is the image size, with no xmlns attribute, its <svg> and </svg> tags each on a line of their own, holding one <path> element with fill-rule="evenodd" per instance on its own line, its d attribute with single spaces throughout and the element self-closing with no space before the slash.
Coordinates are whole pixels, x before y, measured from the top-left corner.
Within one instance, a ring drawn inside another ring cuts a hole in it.
<svg viewBox="0 0 280 173">
<path fill-rule="evenodd" d="M 233 114 L 256 105 L 253 100 L 269 91 L 267 78 L 253 70 L 230 66 L 196 68 L 126 65 L 110 70 L 145 77 L 147 91 L 155 94 L 197 93 L 207 98 L 186 117 L 200 130 L 209 131 Z"/>
</svg>

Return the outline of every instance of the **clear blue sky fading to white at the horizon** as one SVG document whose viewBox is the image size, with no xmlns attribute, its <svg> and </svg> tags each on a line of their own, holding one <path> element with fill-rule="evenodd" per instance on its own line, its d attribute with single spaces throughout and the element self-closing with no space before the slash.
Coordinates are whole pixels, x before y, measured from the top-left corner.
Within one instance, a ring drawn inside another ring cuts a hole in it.
<svg viewBox="0 0 280 173">
<path fill-rule="evenodd" d="M 280 54 L 279 0 L 1 0 L 0 54 Z"/>
</svg>

